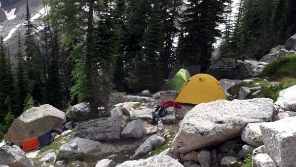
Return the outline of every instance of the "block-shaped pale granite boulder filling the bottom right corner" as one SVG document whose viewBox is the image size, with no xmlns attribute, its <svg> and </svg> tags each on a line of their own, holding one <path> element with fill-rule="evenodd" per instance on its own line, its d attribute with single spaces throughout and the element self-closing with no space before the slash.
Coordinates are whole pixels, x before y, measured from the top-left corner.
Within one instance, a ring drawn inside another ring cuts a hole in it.
<svg viewBox="0 0 296 167">
<path fill-rule="evenodd" d="M 296 117 L 260 125 L 268 155 L 280 167 L 296 167 Z"/>
</svg>

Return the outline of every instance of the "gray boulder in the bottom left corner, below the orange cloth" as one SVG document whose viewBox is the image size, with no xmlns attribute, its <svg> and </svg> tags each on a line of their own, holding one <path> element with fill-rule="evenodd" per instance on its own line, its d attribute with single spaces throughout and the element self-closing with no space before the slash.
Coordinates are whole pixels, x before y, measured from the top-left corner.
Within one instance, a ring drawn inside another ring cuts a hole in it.
<svg viewBox="0 0 296 167">
<path fill-rule="evenodd" d="M 0 147 L 0 166 L 9 167 L 33 167 L 33 163 L 22 149 L 17 146 L 9 146 L 4 144 Z"/>
</svg>

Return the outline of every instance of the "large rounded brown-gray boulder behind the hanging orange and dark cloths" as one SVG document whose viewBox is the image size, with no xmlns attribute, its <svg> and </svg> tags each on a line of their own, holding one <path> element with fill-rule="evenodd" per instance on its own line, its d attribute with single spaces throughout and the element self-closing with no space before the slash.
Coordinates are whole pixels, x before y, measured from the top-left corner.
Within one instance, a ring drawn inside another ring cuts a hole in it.
<svg viewBox="0 0 296 167">
<path fill-rule="evenodd" d="M 37 137 L 63 123 L 65 118 L 64 112 L 49 104 L 33 107 L 14 120 L 4 140 L 5 142 L 22 141 Z M 15 144 L 22 146 L 23 142 L 15 142 Z"/>
</svg>

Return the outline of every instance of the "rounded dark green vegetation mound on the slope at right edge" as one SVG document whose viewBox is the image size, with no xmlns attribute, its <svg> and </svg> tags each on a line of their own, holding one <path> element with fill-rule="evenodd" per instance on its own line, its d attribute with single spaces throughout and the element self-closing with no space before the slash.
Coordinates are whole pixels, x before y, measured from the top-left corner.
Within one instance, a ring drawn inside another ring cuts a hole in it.
<svg viewBox="0 0 296 167">
<path fill-rule="evenodd" d="M 296 78 L 296 54 L 277 58 L 268 63 L 260 76 L 271 79 L 282 79 L 283 77 Z"/>
</svg>

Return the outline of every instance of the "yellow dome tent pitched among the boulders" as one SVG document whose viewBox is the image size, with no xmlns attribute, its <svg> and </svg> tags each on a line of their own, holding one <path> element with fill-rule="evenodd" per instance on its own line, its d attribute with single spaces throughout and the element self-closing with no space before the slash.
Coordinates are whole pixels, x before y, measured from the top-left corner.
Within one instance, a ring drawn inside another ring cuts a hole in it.
<svg viewBox="0 0 296 167">
<path fill-rule="evenodd" d="M 183 84 L 175 102 L 199 104 L 219 99 L 226 100 L 226 95 L 216 78 L 208 74 L 197 74 Z"/>
</svg>

